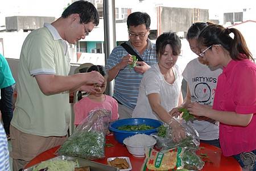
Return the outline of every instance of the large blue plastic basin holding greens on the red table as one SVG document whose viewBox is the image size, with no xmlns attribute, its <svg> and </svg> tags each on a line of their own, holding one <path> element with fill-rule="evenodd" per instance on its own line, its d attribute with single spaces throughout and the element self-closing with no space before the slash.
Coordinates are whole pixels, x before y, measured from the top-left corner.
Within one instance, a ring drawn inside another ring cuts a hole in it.
<svg viewBox="0 0 256 171">
<path fill-rule="evenodd" d="M 124 125 L 142 125 L 146 124 L 148 126 L 154 127 L 154 129 L 146 130 L 146 131 L 124 131 L 118 130 L 117 127 Z M 109 130 L 113 132 L 115 140 L 119 143 L 123 144 L 123 140 L 128 136 L 133 136 L 135 134 L 147 134 L 150 135 L 157 131 L 157 128 L 161 126 L 163 122 L 158 121 L 156 119 L 149 118 L 128 118 L 128 119 L 119 119 L 110 123 Z"/>
</svg>

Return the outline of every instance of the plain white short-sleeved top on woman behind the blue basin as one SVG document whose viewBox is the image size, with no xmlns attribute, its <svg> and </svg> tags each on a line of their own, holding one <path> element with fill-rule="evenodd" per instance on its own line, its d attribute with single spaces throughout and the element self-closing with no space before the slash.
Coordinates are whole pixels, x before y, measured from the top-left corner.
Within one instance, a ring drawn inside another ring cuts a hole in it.
<svg viewBox="0 0 256 171">
<path fill-rule="evenodd" d="M 177 65 L 172 67 L 172 70 L 175 75 L 173 84 L 166 82 L 158 63 L 145 72 L 139 87 L 139 97 L 133 111 L 133 118 L 159 119 L 158 115 L 151 109 L 147 98 L 147 95 L 151 93 L 159 93 L 161 105 L 167 112 L 178 105 L 182 76 Z"/>
</svg>

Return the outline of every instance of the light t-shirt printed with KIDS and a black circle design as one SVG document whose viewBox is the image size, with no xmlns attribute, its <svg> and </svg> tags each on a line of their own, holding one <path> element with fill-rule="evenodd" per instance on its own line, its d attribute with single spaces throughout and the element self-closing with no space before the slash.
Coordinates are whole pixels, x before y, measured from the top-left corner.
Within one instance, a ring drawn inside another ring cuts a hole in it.
<svg viewBox="0 0 256 171">
<path fill-rule="evenodd" d="M 213 99 L 217 86 L 217 78 L 222 69 L 210 69 L 207 65 L 201 64 L 198 59 L 188 63 L 183 71 L 183 78 L 187 81 L 191 92 L 191 101 L 204 105 L 213 105 Z M 200 139 L 218 139 L 218 122 L 195 120 L 190 123 L 199 132 Z"/>
</svg>

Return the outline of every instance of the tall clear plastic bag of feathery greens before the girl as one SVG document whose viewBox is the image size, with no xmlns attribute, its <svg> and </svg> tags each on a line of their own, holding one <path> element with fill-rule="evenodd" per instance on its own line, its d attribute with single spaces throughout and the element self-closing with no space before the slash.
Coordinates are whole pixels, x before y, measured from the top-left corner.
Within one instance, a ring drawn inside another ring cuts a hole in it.
<svg viewBox="0 0 256 171">
<path fill-rule="evenodd" d="M 60 147 L 58 155 L 101 159 L 105 157 L 105 133 L 111 119 L 106 109 L 91 110 L 74 133 Z"/>
</svg>

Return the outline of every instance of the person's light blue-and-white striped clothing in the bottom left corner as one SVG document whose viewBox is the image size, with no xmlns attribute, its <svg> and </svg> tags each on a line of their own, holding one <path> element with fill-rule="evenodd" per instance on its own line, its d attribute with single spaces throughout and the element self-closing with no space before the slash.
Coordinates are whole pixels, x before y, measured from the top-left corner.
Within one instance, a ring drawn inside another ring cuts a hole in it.
<svg viewBox="0 0 256 171">
<path fill-rule="evenodd" d="M 1 114 L 0 114 L 1 117 Z M 5 130 L 3 129 L 2 123 L 0 123 L 0 170 L 1 171 L 9 171 L 9 150 L 8 143 L 5 134 Z"/>
</svg>

